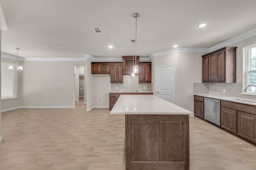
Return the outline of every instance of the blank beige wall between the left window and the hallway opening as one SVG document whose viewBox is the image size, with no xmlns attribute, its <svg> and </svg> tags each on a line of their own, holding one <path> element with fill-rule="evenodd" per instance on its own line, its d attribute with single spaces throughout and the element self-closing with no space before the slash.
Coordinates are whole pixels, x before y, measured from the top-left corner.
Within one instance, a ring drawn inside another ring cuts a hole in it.
<svg viewBox="0 0 256 170">
<path fill-rule="evenodd" d="M 74 64 L 26 61 L 20 78 L 21 107 L 74 107 Z M 79 62 L 81 63 L 81 62 Z M 83 62 L 86 64 L 86 62 Z"/>
</svg>

